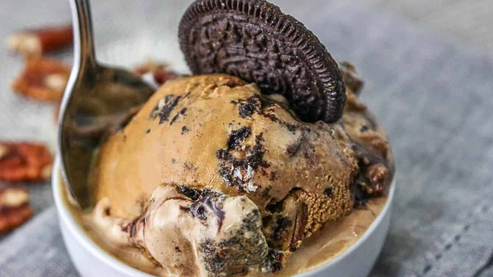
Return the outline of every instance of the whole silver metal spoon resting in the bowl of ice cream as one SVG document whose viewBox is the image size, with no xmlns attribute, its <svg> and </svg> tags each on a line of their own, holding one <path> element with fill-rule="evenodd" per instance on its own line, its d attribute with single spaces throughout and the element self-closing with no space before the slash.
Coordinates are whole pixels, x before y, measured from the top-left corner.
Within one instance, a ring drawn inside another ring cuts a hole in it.
<svg viewBox="0 0 493 277">
<path fill-rule="evenodd" d="M 73 66 L 60 107 L 58 150 L 72 200 L 89 209 L 94 206 L 90 176 L 99 146 L 108 130 L 128 122 L 132 108 L 154 90 L 129 71 L 99 65 L 89 0 L 70 0 L 70 7 Z"/>
</svg>

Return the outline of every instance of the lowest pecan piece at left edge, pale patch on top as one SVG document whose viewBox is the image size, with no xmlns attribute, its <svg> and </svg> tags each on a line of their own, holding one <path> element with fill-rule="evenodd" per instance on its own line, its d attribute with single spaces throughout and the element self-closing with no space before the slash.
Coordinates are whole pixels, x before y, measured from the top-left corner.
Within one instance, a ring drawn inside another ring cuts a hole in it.
<svg viewBox="0 0 493 277">
<path fill-rule="evenodd" d="M 0 188 L 0 234 L 6 233 L 33 215 L 29 193 L 18 187 Z"/>
</svg>

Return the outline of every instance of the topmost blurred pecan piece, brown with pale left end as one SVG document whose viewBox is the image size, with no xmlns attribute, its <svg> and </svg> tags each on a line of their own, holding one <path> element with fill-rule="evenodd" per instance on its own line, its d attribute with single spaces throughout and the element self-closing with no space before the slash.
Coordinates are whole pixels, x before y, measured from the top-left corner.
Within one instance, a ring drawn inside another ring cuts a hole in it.
<svg viewBox="0 0 493 277">
<path fill-rule="evenodd" d="M 7 38 L 7 47 L 24 56 L 41 56 L 43 53 L 70 45 L 72 40 L 72 26 L 69 24 L 27 30 L 10 35 Z"/>
</svg>

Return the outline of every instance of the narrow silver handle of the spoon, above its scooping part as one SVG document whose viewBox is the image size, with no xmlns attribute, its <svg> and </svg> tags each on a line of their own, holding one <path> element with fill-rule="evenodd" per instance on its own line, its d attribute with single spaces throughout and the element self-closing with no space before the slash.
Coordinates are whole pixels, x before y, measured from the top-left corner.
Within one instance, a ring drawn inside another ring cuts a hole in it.
<svg viewBox="0 0 493 277">
<path fill-rule="evenodd" d="M 74 63 L 80 72 L 95 72 L 98 68 L 94 51 L 94 35 L 89 0 L 70 0 L 73 25 Z"/>
</svg>

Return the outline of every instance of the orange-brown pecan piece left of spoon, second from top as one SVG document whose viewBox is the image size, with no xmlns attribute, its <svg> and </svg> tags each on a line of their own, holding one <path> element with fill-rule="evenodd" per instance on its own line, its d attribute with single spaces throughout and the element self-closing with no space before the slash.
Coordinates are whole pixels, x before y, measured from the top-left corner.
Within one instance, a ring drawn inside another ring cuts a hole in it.
<svg viewBox="0 0 493 277">
<path fill-rule="evenodd" d="M 12 90 L 38 101 L 60 102 L 69 75 L 70 68 L 59 61 L 31 58 L 12 84 Z"/>
</svg>

